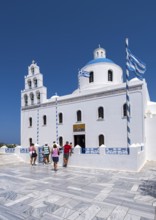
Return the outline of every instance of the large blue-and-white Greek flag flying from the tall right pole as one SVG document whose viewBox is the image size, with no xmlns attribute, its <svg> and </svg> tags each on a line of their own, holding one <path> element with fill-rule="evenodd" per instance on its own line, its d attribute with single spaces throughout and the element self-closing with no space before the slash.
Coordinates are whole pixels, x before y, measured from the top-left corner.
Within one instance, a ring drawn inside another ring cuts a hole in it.
<svg viewBox="0 0 156 220">
<path fill-rule="evenodd" d="M 127 54 L 127 62 L 126 66 L 129 71 L 135 72 L 135 75 L 140 80 L 143 80 L 143 74 L 146 71 L 146 64 L 143 63 L 141 60 L 136 58 L 130 51 L 128 47 L 126 47 L 126 54 Z"/>
</svg>

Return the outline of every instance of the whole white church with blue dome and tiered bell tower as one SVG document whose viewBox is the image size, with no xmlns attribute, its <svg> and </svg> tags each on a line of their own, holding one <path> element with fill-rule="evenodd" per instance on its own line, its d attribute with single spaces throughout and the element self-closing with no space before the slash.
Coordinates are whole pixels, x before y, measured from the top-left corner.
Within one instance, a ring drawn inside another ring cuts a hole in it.
<svg viewBox="0 0 156 220">
<path fill-rule="evenodd" d="M 147 160 L 156 160 L 156 103 L 150 101 L 145 79 L 129 81 L 131 146 L 126 155 L 123 70 L 106 58 L 103 48 L 95 49 L 93 55 L 93 60 L 82 68 L 90 76 L 79 77 L 79 88 L 72 94 L 49 99 L 39 66 L 33 61 L 28 67 L 25 88 L 21 91 L 21 146 L 28 147 L 31 143 L 52 146 L 53 141 L 63 146 L 69 141 L 84 152 L 103 147 L 105 155 L 117 154 L 122 158 L 131 158 L 137 149 L 139 166 Z"/>
</svg>

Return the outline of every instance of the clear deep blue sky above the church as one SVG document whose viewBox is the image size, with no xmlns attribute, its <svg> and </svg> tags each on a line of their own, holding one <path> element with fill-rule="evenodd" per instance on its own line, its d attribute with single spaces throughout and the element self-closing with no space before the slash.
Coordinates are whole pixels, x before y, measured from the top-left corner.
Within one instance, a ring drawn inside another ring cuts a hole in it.
<svg viewBox="0 0 156 220">
<path fill-rule="evenodd" d="M 0 142 L 20 144 L 21 90 L 34 59 L 48 98 L 77 88 L 77 70 L 100 44 L 125 73 L 125 38 L 147 65 L 145 79 L 156 101 L 155 0 L 1 0 Z M 132 74 L 132 77 L 134 75 Z"/>
</svg>

